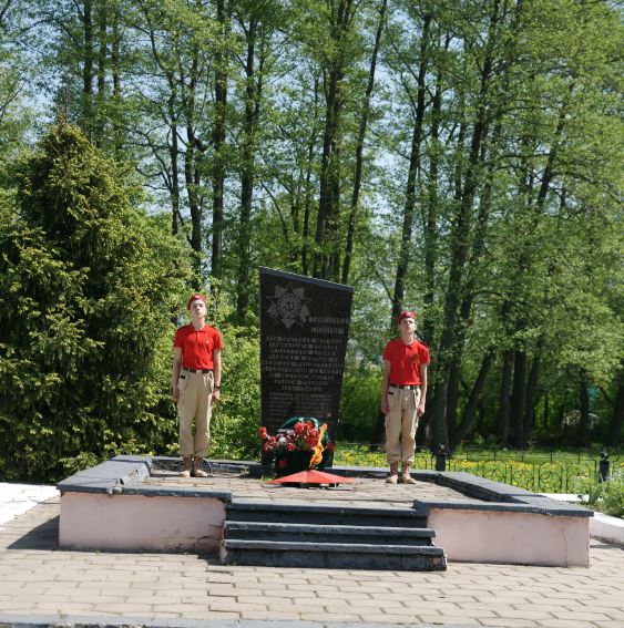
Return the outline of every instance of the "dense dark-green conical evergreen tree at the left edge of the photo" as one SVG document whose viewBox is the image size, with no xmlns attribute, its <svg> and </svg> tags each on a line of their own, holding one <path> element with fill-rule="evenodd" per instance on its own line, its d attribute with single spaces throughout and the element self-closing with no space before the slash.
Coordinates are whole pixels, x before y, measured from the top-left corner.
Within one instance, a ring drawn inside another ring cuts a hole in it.
<svg viewBox="0 0 624 628">
<path fill-rule="evenodd" d="M 0 474 L 175 440 L 172 313 L 187 262 L 127 169 L 60 124 L 19 168 L 0 230 Z"/>
</svg>

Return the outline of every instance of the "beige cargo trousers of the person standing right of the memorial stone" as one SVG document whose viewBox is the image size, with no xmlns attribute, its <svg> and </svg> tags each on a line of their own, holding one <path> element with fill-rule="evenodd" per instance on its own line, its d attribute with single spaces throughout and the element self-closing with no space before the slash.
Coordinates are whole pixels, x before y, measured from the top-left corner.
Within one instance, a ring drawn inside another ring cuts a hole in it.
<svg viewBox="0 0 624 628">
<path fill-rule="evenodd" d="M 386 457 L 389 463 L 413 462 L 420 387 L 388 388 L 386 414 Z"/>
</svg>

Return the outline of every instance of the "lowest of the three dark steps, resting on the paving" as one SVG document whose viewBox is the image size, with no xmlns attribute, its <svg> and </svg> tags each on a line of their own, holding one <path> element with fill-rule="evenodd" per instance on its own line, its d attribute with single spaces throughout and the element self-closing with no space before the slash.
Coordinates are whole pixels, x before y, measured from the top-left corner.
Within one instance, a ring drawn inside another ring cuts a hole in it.
<svg viewBox="0 0 624 628">
<path fill-rule="evenodd" d="M 438 572 L 447 568 L 442 548 L 410 545 L 301 543 L 225 538 L 224 565 Z"/>
</svg>

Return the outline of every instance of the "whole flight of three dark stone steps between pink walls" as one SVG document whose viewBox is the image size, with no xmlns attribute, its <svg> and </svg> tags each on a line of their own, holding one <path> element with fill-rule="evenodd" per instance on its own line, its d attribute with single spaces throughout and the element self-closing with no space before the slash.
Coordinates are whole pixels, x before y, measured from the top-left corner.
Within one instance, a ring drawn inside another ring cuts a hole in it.
<svg viewBox="0 0 624 628">
<path fill-rule="evenodd" d="M 431 572 L 447 568 L 424 517 L 377 509 L 268 501 L 226 506 L 225 565 Z"/>
</svg>

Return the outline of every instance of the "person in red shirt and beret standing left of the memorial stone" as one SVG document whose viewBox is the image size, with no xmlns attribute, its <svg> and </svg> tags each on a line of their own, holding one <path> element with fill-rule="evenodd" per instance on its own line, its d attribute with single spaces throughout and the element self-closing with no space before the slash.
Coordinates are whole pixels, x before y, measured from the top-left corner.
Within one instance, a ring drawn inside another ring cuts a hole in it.
<svg viewBox="0 0 624 628">
<path fill-rule="evenodd" d="M 221 333 L 206 325 L 206 299 L 192 295 L 186 303 L 191 323 L 175 332 L 173 399 L 180 418 L 183 477 L 206 477 L 202 461 L 208 453 L 213 403 L 221 397 Z M 195 421 L 195 436 L 193 436 Z"/>
</svg>

